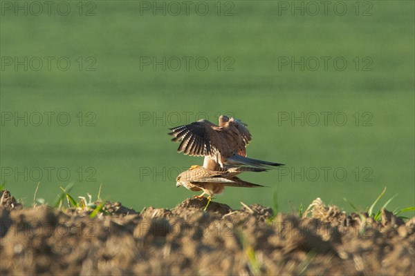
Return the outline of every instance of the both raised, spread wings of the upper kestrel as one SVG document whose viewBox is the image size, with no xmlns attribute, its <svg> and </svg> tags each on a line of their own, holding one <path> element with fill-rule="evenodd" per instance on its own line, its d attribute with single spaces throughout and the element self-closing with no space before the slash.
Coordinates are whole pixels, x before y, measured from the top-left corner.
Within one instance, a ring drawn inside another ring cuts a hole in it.
<svg viewBox="0 0 415 276">
<path fill-rule="evenodd" d="M 181 141 L 177 151 L 185 155 L 210 156 L 218 163 L 235 154 L 245 156 L 250 141 L 246 126 L 236 119 L 229 119 L 224 126 L 216 126 L 208 120 L 171 128 L 172 141 Z"/>
</svg>

